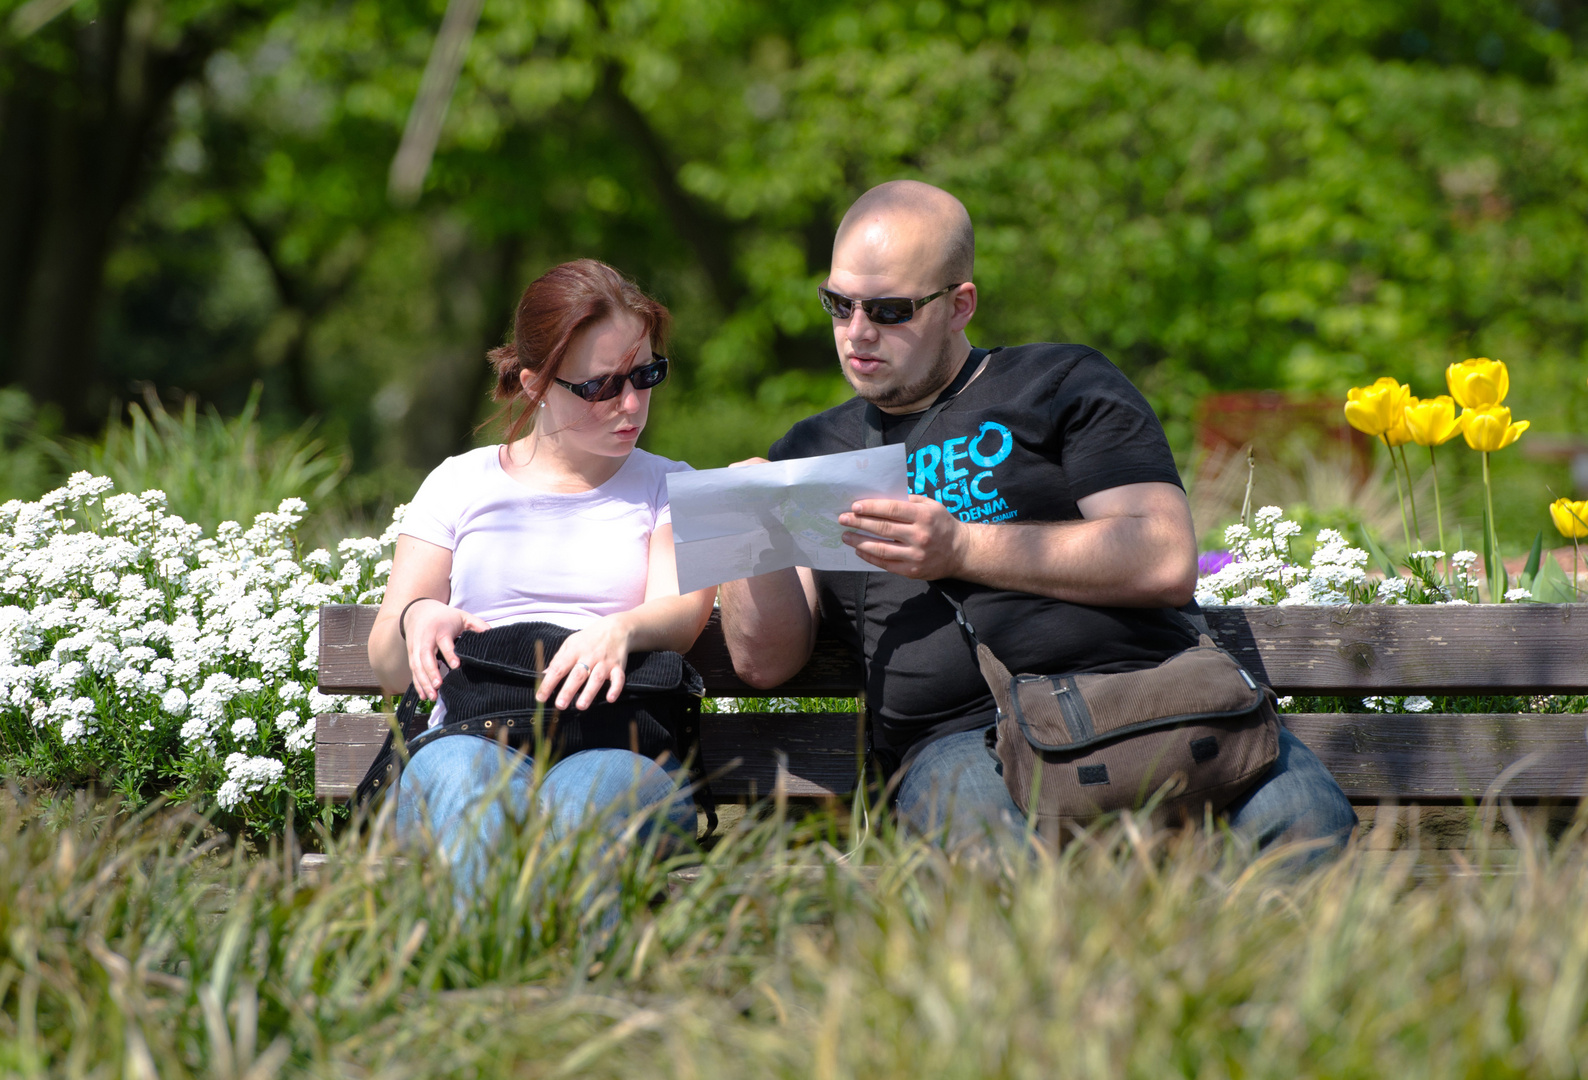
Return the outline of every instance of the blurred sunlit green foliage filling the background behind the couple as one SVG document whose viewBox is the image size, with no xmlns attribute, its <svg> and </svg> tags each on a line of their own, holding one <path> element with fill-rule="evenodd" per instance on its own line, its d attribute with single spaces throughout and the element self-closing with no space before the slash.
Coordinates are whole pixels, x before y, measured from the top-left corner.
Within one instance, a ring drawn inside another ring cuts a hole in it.
<svg viewBox="0 0 1588 1080">
<path fill-rule="evenodd" d="M 1188 472 L 1210 389 L 1428 395 L 1494 356 L 1529 438 L 1588 419 L 1580 3 L 491 0 L 424 197 L 395 208 L 443 8 L 148 10 L 151 49 L 198 27 L 206 51 L 148 132 L 76 392 L 237 411 L 262 380 L 267 416 L 322 416 L 357 473 L 413 476 L 491 435 L 483 354 L 519 289 L 597 256 L 676 314 L 649 448 L 719 465 L 846 394 L 813 299 L 832 227 L 918 176 L 977 222 L 973 338 L 1104 349 Z M 14 102 L 129 6 L 27 37 L 0 10 Z M 30 384 L 8 340 L 0 378 Z M 1496 459 L 1501 515 L 1542 523 L 1571 481 L 1526 442 Z M 1475 521 L 1470 462 L 1442 453 Z"/>
</svg>

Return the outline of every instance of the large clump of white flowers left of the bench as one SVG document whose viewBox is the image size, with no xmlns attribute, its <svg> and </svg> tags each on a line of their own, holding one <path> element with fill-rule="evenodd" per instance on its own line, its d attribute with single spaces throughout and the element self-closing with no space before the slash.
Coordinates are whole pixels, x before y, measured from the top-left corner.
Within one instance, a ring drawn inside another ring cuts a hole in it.
<svg viewBox="0 0 1588 1080">
<path fill-rule="evenodd" d="M 256 834 L 289 804 L 313 815 L 314 716 L 373 708 L 316 689 L 319 607 L 381 599 L 397 518 L 300 553 L 305 510 L 286 499 L 205 537 L 164 492 L 86 472 L 0 505 L 6 772 L 213 802 Z"/>
</svg>

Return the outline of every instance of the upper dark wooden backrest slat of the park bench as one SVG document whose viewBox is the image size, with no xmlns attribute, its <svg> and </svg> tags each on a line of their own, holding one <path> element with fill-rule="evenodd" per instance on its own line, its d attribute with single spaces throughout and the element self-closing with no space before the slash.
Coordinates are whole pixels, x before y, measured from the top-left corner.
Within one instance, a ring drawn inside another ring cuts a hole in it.
<svg viewBox="0 0 1588 1080">
<path fill-rule="evenodd" d="M 321 608 L 319 686 L 376 694 L 368 661 L 373 607 Z M 1208 608 L 1208 626 L 1280 694 L 1588 694 L 1588 604 Z M 764 696 L 745 686 L 711 615 L 689 661 L 716 697 Z M 823 635 L 778 697 L 853 697 L 854 658 Z"/>
</svg>

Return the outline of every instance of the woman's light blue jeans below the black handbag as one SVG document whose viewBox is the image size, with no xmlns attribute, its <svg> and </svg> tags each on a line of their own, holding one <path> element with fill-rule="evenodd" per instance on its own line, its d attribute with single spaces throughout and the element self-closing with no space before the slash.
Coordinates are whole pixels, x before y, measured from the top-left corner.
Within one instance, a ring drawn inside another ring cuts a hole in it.
<svg viewBox="0 0 1588 1080">
<path fill-rule="evenodd" d="M 459 902 L 467 902 L 500 848 L 508 813 L 522 821 L 532 797 L 556 839 L 592 816 L 615 837 L 635 813 L 656 807 L 665 808 L 643 823 L 642 842 L 657 826 L 678 840 L 696 832 L 688 775 L 629 750 L 581 750 L 548 769 L 538 793 L 534 781 L 534 762 L 492 740 L 437 739 L 413 756 L 397 781 L 397 839 L 405 845 L 432 839 L 453 864 Z"/>
</svg>

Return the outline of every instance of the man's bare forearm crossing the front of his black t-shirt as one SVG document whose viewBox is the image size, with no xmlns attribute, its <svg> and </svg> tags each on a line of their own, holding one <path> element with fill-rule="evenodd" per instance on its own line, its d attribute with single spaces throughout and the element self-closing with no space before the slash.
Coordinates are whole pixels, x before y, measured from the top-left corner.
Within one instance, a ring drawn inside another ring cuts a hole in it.
<svg viewBox="0 0 1588 1080">
<path fill-rule="evenodd" d="M 970 524 L 966 581 L 1099 607 L 1180 607 L 1196 591 L 1196 546 L 1154 518 Z"/>
</svg>

